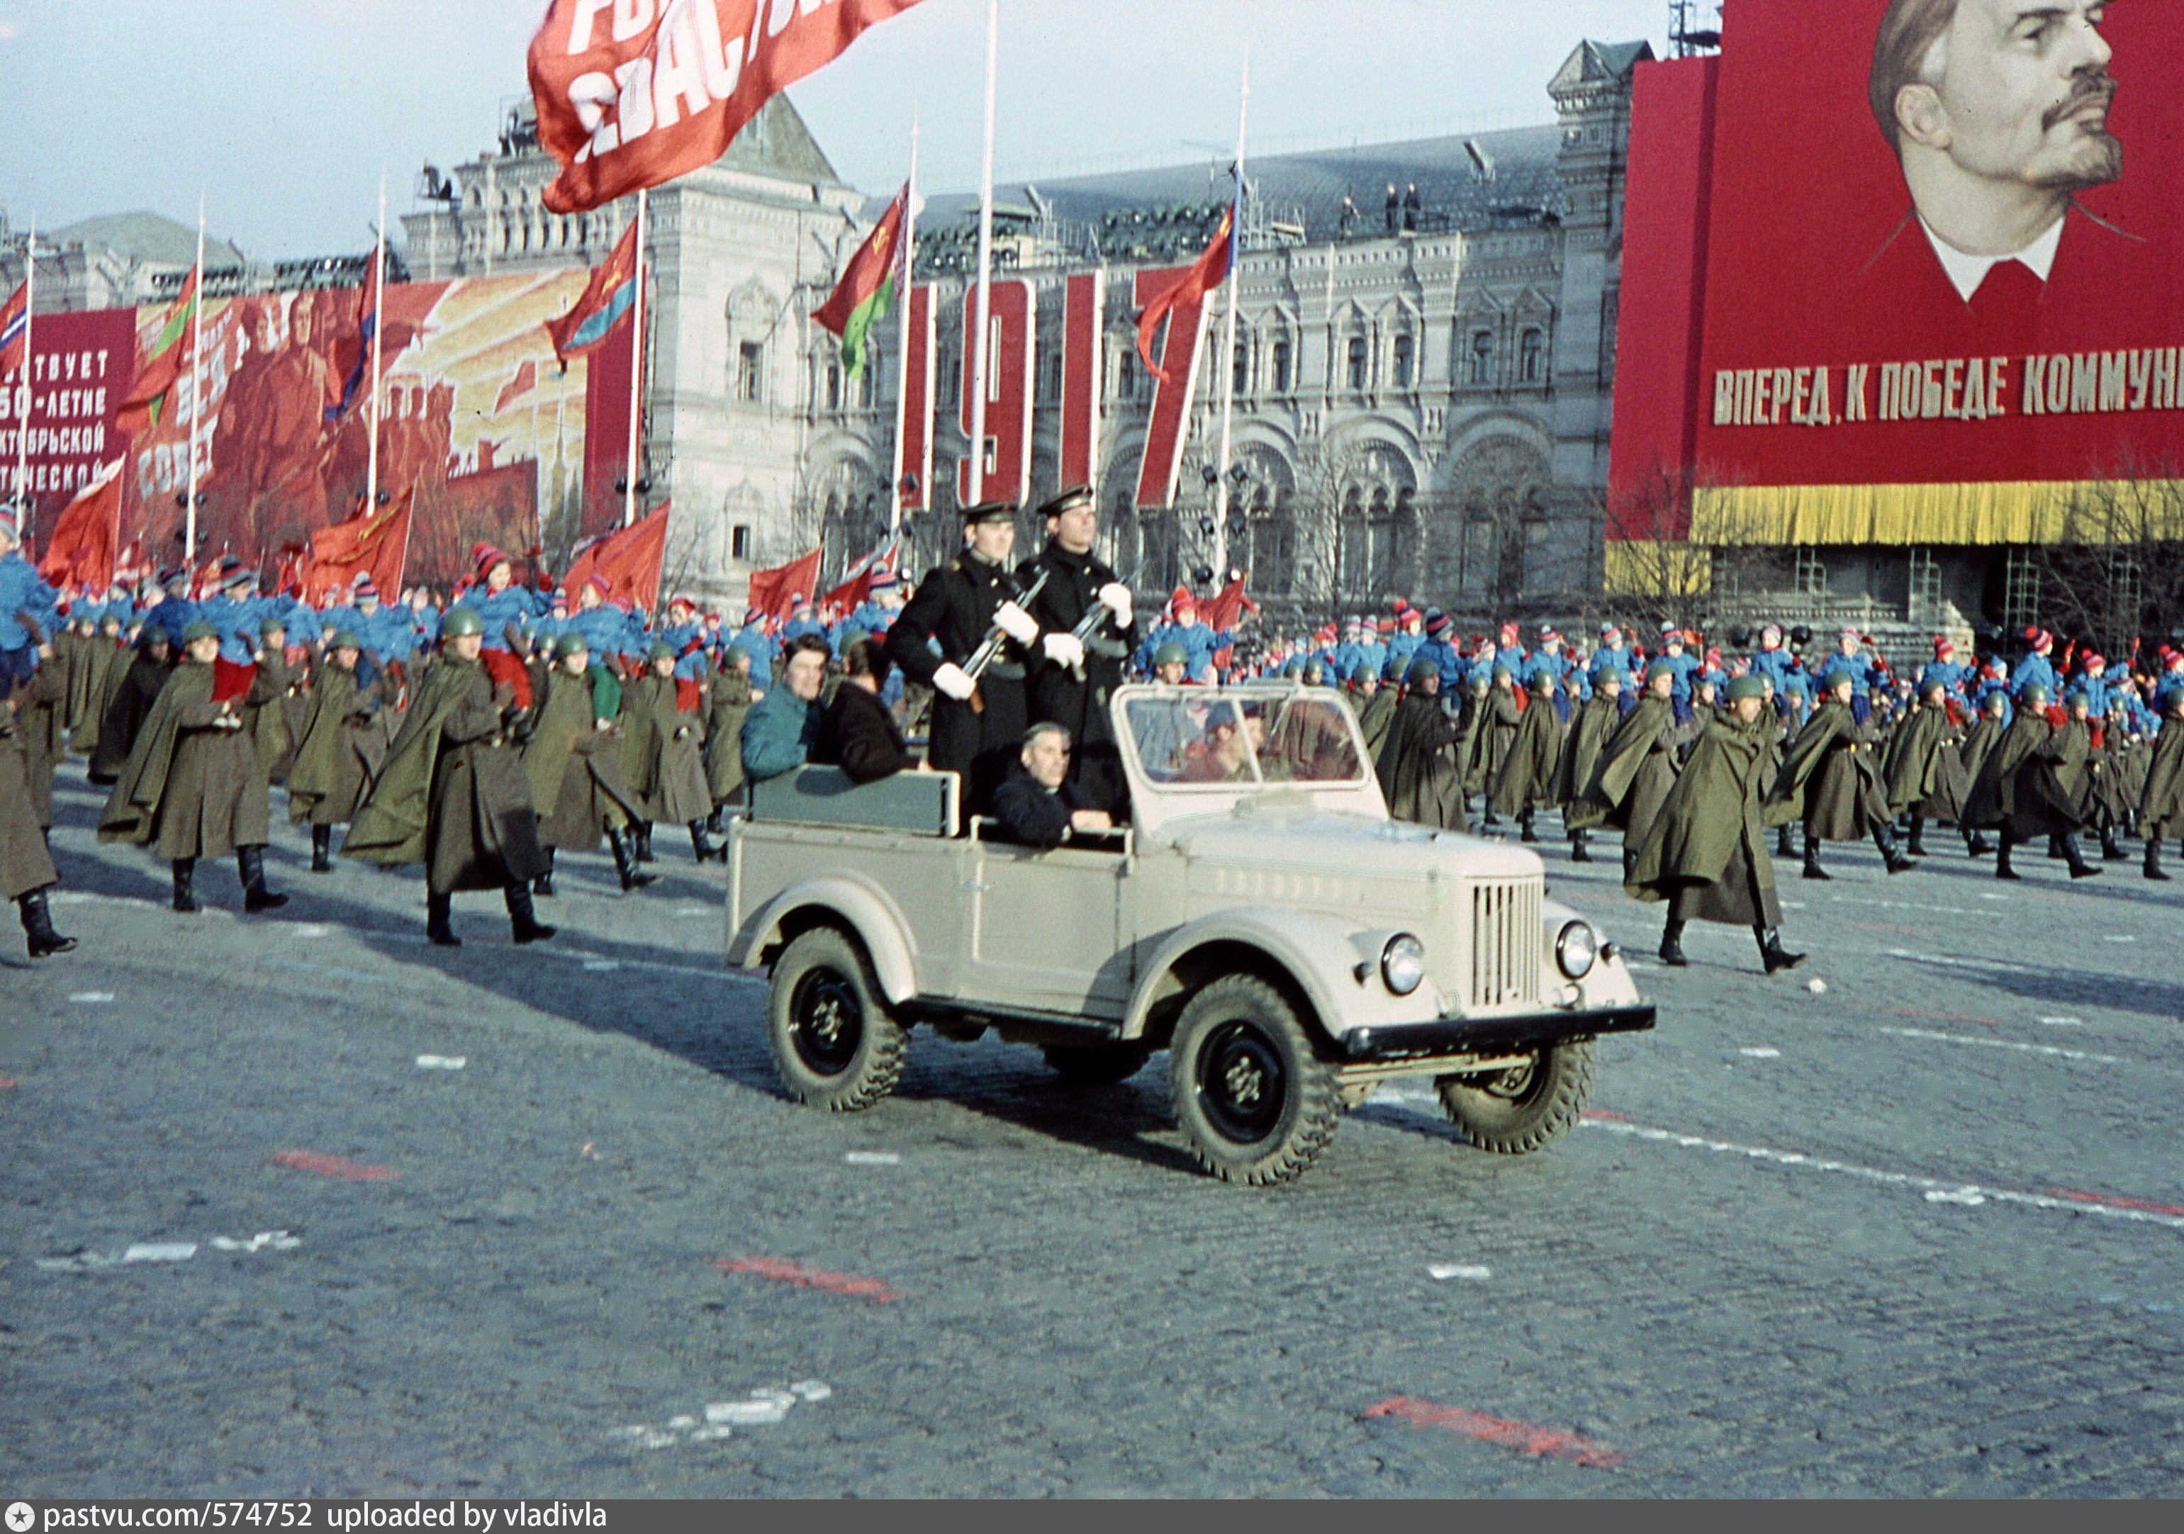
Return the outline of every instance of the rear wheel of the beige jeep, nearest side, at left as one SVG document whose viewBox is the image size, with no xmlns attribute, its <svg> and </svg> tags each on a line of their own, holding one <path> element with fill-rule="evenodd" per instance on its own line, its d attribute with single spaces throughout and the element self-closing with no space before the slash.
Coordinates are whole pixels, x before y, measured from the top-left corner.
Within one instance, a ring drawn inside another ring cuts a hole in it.
<svg viewBox="0 0 2184 1534">
<path fill-rule="evenodd" d="M 909 1055 L 909 1034 L 887 1010 L 871 964 L 832 927 L 815 927 L 775 959 L 767 1042 L 788 1095 L 830 1112 L 887 1097 Z"/>
</svg>

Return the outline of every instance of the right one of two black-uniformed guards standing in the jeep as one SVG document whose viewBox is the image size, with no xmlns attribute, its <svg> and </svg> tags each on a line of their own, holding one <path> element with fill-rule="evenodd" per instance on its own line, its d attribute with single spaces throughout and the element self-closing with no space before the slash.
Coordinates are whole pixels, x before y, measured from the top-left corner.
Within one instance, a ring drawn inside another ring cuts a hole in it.
<svg viewBox="0 0 2184 1534">
<path fill-rule="evenodd" d="M 1136 610 L 1129 588 L 1092 553 L 1099 540 L 1099 500 L 1090 489 L 1061 492 L 1040 507 L 1040 516 L 1046 518 L 1046 548 L 1016 573 L 1018 586 L 1026 590 L 1046 573 L 1046 586 L 1029 605 L 1046 632 L 1031 666 L 1031 721 L 1057 723 L 1070 732 L 1077 743 L 1070 752 L 1070 782 L 1090 804 L 1118 815 L 1127 780 L 1107 699 L 1123 686 L 1123 666 L 1138 649 Z M 1103 614 L 1101 623 L 1083 640 L 1083 656 L 1070 664 L 1077 627 L 1094 607 Z"/>
</svg>

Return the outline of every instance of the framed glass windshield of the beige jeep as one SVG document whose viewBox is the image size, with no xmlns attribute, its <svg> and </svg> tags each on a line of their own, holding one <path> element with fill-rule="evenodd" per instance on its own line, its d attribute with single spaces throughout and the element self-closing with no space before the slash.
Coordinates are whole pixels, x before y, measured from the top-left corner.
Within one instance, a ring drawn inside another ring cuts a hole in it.
<svg viewBox="0 0 2184 1534">
<path fill-rule="evenodd" d="M 1164 789 L 1352 787 L 1367 765 L 1332 693 L 1173 688 L 1127 697 L 1123 719 L 1147 780 Z"/>
</svg>

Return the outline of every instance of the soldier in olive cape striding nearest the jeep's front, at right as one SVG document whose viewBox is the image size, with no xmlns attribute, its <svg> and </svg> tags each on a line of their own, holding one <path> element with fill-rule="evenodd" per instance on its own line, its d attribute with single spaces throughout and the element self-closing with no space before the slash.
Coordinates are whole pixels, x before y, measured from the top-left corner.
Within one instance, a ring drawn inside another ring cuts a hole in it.
<svg viewBox="0 0 2184 1534">
<path fill-rule="evenodd" d="M 1767 828 L 1760 824 L 1760 763 L 1767 754 L 1767 686 L 1730 682 L 1730 710 L 1717 712 L 1690 747 L 1690 760 L 1645 835 L 1623 887 L 1636 900 L 1666 900 L 1660 961 L 1682 968 L 1686 922 L 1749 927 L 1769 975 L 1804 964 L 1782 951 Z"/>
</svg>

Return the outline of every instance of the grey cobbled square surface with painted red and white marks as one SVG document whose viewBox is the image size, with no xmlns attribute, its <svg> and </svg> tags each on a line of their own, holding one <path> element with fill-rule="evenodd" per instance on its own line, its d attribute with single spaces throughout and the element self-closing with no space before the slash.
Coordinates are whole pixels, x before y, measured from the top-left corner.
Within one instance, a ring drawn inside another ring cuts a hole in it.
<svg viewBox="0 0 2184 1534">
<path fill-rule="evenodd" d="M 275 795 L 275 819 L 282 800 Z M 1105 1090 L 919 1031 L 780 1095 L 723 872 L 500 902 L 312 878 L 245 920 L 98 848 L 0 975 L 0 1490 L 68 1495 L 2175 1495 L 2184 885 L 1933 835 L 1695 927 L 1548 1154 L 1424 1084 L 1297 1187 L 1201 1176 L 1166 1055 Z M 1546 822 L 1551 824 L 1551 822 Z M 1553 894 L 1649 959 L 1616 852 Z M 1821 981 L 1815 990 L 1811 981 Z"/>
</svg>

